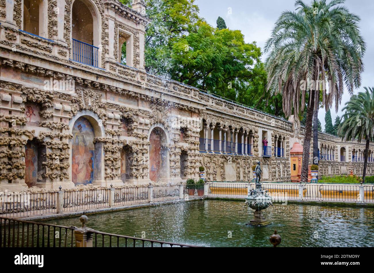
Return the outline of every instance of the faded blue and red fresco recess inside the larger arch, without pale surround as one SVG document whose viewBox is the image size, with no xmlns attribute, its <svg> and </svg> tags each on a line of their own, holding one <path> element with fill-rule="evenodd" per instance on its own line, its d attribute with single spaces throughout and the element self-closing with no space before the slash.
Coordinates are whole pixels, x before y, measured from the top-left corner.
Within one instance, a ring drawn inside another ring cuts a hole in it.
<svg viewBox="0 0 374 273">
<path fill-rule="evenodd" d="M 91 184 L 101 179 L 101 142 L 93 143 L 95 131 L 91 122 L 79 117 L 73 126 L 71 145 L 71 172 L 75 185 Z"/>
</svg>

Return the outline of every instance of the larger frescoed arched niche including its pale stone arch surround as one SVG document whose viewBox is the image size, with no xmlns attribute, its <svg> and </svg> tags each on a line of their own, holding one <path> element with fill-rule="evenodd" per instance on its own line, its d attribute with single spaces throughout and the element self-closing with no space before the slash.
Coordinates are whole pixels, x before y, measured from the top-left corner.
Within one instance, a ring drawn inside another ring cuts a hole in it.
<svg viewBox="0 0 374 273">
<path fill-rule="evenodd" d="M 94 139 L 104 137 L 104 127 L 96 114 L 82 111 L 69 122 L 71 157 L 71 181 L 74 185 L 96 184 L 104 181 L 104 149 L 102 142 Z"/>
</svg>

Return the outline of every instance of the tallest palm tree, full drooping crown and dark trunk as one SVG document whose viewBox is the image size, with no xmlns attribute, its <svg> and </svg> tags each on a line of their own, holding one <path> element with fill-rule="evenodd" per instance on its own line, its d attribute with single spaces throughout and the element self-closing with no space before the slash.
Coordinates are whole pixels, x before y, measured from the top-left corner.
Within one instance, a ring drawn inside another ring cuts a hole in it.
<svg viewBox="0 0 374 273">
<path fill-rule="evenodd" d="M 285 115 L 293 112 L 298 116 L 307 104 L 302 182 L 308 178 L 313 112 L 319 105 L 316 93 L 322 93 L 322 106 L 326 109 L 333 101 L 338 109 L 344 84 L 350 94 L 361 85 L 366 44 L 359 31 L 360 18 L 340 5 L 343 3 L 344 0 L 315 0 L 305 4 L 297 0 L 296 12 L 282 13 L 265 45 L 265 53 L 269 52 L 267 89 L 272 94 L 282 94 Z M 315 84 L 318 81 L 321 82 Z M 324 88 L 326 82 L 328 90 Z"/>
</svg>

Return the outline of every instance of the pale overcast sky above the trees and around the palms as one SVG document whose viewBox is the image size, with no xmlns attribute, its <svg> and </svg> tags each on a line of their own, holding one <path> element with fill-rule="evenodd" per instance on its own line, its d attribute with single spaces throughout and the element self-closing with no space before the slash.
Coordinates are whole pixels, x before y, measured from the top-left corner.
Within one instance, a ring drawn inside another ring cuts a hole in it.
<svg viewBox="0 0 374 273">
<path fill-rule="evenodd" d="M 305 0 L 306 3 L 310 1 Z M 275 21 L 283 10 L 295 10 L 294 0 L 196 0 L 200 8 L 200 16 L 205 18 L 208 23 L 217 26 L 217 18 L 221 16 L 230 29 L 240 29 L 245 35 L 245 41 L 251 43 L 257 42 L 257 45 L 264 47 L 266 40 L 270 37 L 270 32 Z M 364 56 L 365 72 L 362 75 L 362 85 L 358 90 L 364 90 L 363 87 L 374 86 L 374 1 L 373 0 L 346 0 L 344 4 L 350 12 L 355 13 L 361 18 L 361 34 L 367 43 L 367 50 Z M 262 57 L 263 61 L 265 56 Z M 341 116 L 341 109 L 344 103 L 348 101 L 350 95 L 344 92 L 338 113 L 335 112 L 335 106 L 331 109 L 332 122 L 335 117 Z M 320 109 L 318 114 L 321 120 L 322 129 L 325 128 L 325 110 Z"/>
</svg>

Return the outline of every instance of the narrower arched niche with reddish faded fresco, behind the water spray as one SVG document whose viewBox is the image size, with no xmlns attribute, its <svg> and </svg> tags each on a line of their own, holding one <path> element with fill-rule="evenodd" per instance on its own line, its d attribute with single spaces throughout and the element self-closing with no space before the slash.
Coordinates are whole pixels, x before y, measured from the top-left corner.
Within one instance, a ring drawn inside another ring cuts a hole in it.
<svg viewBox="0 0 374 273">
<path fill-rule="evenodd" d="M 163 181 L 168 178 L 169 153 L 166 147 L 167 138 L 162 128 L 156 127 L 149 137 L 149 178 L 153 182 Z"/>
</svg>

